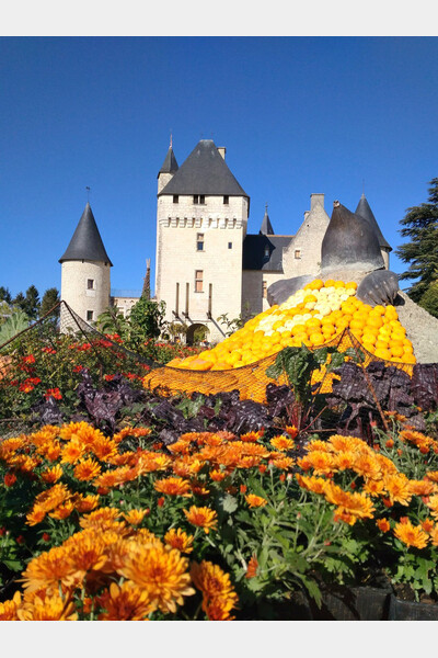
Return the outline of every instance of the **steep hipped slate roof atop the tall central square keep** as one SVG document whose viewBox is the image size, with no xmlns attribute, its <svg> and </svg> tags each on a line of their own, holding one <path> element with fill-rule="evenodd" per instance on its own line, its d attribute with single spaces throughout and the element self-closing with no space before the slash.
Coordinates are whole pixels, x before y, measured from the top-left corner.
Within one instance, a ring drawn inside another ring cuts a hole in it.
<svg viewBox="0 0 438 658">
<path fill-rule="evenodd" d="M 212 139 L 201 139 L 161 194 L 246 196 Z"/>
</svg>

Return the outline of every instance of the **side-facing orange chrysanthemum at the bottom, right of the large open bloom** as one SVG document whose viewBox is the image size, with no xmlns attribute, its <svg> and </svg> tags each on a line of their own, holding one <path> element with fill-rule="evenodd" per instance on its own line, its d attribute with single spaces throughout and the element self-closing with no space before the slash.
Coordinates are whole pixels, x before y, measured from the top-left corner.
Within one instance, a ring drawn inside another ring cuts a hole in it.
<svg viewBox="0 0 438 658">
<path fill-rule="evenodd" d="M 218 565 L 203 560 L 192 563 L 191 576 L 196 589 L 203 592 L 203 610 L 210 621 L 232 620 L 230 612 L 239 602 L 229 574 Z"/>
</svg>

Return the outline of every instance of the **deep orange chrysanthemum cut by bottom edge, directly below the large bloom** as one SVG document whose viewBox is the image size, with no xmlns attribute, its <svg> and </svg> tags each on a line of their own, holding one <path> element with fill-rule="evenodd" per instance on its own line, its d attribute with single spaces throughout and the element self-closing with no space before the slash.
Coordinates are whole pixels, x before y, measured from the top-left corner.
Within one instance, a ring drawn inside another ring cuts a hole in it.
<svg viewBox="0 0 438 658">
<path fill-rule="evenodd" d="M 110 622 L 147 620 L 157 608 L 150 602 L 149 592 L 130 580 L 125 580 L 120 586 L 112 582 L 110 589 L 96 597 L 96 602 L 106 611 L 97 619 Z"/>
</svg>

